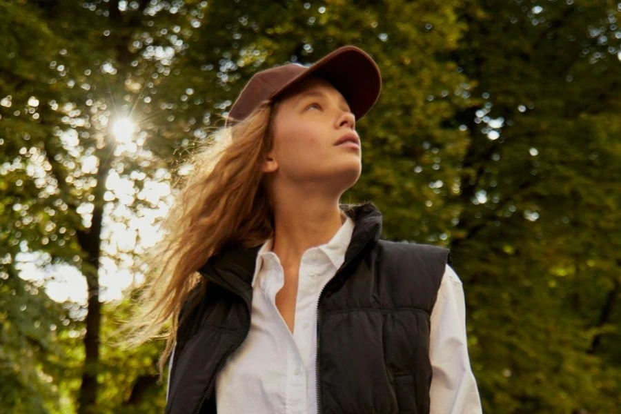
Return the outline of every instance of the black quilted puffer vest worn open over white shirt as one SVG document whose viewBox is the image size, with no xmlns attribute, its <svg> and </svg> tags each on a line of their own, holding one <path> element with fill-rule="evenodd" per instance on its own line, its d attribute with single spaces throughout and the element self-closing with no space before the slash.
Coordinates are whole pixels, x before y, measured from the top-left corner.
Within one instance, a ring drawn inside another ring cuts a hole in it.
<svg viewBox="0 0 621 414">
<path fill-rule="evenodd" d="M 380 240 L 373 204 L 342 208 L 355 227 L 345 262 L 319 296 L 319 411 L 428 414 L 430 315 L 449 250 Z M 207 288 L 179 326 L 167 414 L 216 412 L 217 373 L 250 329 L 258 250 L 228 248 L 201 268 Z"/>
</svg>

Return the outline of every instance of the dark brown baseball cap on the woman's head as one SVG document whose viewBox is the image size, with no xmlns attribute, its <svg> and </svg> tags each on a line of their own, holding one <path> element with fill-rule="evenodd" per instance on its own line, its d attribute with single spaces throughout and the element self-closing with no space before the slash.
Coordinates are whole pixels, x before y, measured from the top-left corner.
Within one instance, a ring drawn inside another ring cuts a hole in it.
<svg viewBox="0 0 621 414">
<path fill-rule="evenodd" d="M 343 46 L 311 66 L 299 63 L 255 73 L 228 112 L 227 124 L 243 121 L 263 101 L 273 101 L 311 75 L 330 82 L 346 99 L 356 119 L 370 110 L 382 89 L 380 68 L 362 49 Z"/>
</svg>

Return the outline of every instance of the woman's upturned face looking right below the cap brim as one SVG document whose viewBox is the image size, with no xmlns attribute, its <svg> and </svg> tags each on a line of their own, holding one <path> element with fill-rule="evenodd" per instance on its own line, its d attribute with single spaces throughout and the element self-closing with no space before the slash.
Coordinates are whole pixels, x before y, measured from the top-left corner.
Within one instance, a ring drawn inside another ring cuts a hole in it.
<svg viewBox="0 0 621 414">
<path fill-rule="evenodd" d="M 328 81 L 309 78 L 275 106 L 273 148 L 264 171 L 281 184 L 340 191 L 353 186 L 362 170 L 362 148 L 336 145 L 353 135 L 355 117 L 343 95 Z"/>
</svg>

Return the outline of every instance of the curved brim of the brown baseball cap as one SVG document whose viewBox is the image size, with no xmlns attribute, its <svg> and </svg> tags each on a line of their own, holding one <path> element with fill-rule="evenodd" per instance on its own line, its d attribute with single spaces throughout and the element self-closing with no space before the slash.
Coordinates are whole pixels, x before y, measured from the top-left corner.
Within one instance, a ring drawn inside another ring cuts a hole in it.
<svg viewBox="0 0 621 414">
<path fill-rule="evenodd" d="M 326 79 L 341 92 L 356 119 L 364 117 L 373 108 L 382 90 L 382 75 L 375 61 L 355 46 L 343 46 L 291 79 L 270 99 L 277 99 L 311 76 Z"/>
</svg>

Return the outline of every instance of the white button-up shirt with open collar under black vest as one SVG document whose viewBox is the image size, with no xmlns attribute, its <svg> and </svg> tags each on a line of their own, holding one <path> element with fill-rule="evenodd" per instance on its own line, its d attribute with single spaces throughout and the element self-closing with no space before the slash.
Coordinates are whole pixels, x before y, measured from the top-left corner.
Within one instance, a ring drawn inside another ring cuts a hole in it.
<svg viewBox="0 0 621 414">
<path fill-rule="evenodd" d="M 344 262 L 353 227 L 346 217 L 330 242 L 302 255 L 293 334 L 276 307 L 284 270 L 271 251 L 273 239 L 260 248 L 250 332 L 216 378 L 219 414 L 317 412 L 317 301 Z M 431 313 L 430 346 L 431 414 L 482 413 L 466 344 L 462 282 L 448 264 Z"/>
</svg>

